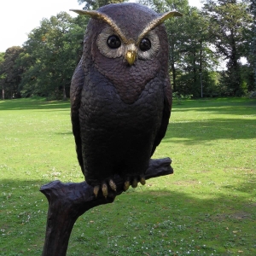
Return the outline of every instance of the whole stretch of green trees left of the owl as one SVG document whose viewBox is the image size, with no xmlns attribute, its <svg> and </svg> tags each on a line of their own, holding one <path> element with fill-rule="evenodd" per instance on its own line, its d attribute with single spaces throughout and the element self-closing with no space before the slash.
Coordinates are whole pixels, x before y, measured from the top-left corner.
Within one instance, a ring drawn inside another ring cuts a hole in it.
<svg viewBox="0 0 256 256">
<path fill-rule="evenodd" d="M 85 16 L 65 12 L 41 21 L 23 47 L 11 47 L 0 64 L 2 98 L 45 96 L 66 98 L 82 54 Z"/>
</svg>

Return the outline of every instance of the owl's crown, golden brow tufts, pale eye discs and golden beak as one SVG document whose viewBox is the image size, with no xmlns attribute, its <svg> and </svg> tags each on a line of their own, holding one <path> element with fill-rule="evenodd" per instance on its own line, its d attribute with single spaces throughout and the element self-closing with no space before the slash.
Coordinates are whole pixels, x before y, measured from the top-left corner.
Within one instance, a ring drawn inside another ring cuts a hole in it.
<svg viewBox="0 0 256 256">
<path fill-rule="evenodd" d="M 159 15 L 137 3 L 109 4 L 97 11 L 72 11 L 107 24 L 96 39 L 98 49 L 108 58 L 123 57 L 130 66 L 137 59 L 153 59 L 160 50 L 160 38 L 154 29 L 171 17 L 181 16 L 176 11 Z"/>
</svg>

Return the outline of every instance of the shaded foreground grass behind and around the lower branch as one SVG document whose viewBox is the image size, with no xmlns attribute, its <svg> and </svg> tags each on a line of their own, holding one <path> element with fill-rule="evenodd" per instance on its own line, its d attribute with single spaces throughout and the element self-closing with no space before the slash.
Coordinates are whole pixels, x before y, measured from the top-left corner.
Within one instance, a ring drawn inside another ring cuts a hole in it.
<svg viewBox="0 0 256 256">
<path fill-rule="evenodd" d="M 192 255 L 229 255 L 232 250 L 255 255 L 255 205 L 249 196 L 255 177 L 204 199 L 186 193 L 186 181 L 178 185 L 184 192 L 177 192 L 172 177 L 171 189 L 158 189 L 153 180 L 149 187 L 129 189 L 112 204 L 85 212 L 74 226 L 67 255 L 143 255 L 142 247 L 150 255 L 169 250 L 185 255 L 192 249 L 201 252 Z M 1 180 L 0 255 L 41 255 L 48 203 L 38 189 L 44 183 Z M 236 189 L 243 193 L 237 195 Z M 131 245 L 134 253 L 127 251 Z"/>
</svg>

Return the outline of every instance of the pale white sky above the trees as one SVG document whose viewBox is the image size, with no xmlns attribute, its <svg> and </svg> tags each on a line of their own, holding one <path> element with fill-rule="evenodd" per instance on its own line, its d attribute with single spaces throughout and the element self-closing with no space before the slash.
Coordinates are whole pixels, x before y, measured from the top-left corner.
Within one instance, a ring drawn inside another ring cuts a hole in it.
<svg viewBox="0 0 256 256">
<path fill-rule="evenodd" d="M 201 0 L 189 0 L 190 6 L 201 7 Z M 11 0 L 0 3 L 0 52 L 12 46 L 22 46 L 27 34 L 40 26 L 43 18 L 66 11 L 73 17 L 75 13 L 69 9 L 82 9 L 77 0 Z"/>
</svg>

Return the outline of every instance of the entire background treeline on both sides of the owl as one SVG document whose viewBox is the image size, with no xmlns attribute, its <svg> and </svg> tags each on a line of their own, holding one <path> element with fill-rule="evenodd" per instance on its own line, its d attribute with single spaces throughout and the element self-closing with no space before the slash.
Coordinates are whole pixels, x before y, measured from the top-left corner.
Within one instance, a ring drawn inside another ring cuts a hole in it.
<svg viewBox="0 0 256 256">
<path fill-rule="evenodd" d="M 111 3 L 122 2 L 113 0 Z M 97 9 L 108 0 L 84 2 Z M 256 90 L 256 4 L 206 0 L 203 9 L 187 0 L 140 0 L 159 13 L 176 9 L 181 18 L 166 20 L 170 76 L 176 95 L 242 96 Z M 0 53 L 0 97 L 69 96 L 73 71 L 82 55 L 86 16 L 65 12 L 43 19 L 23 47 Z M 241 57 L 247 60 L 242 64 Z M 225 63 L 225 64 L 224 64 Z M 221 69 L 220 66 L 225 65 Z"/>
</svg>

